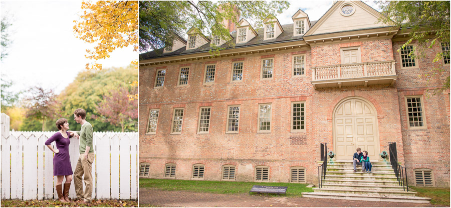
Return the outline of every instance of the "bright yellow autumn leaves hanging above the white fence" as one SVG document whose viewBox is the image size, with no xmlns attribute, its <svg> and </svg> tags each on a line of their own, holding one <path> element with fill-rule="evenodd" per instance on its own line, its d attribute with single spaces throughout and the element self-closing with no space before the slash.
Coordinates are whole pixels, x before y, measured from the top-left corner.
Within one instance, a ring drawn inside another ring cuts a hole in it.
<svg viewBox="0 0 451 208">
<path fill-rule="evenodd" d="M 116 48 L 132 45 L 138 50 L 138 1 L 84 1 L 81 8 L 84 11 L 74 20 L 74 32 L 85 42 L 97 43 L 86 50 L 85 56 L 93 60 L 86 64 L 87 69 L 102 69 L 95 60 L 110 57 Z"/>
</svg>

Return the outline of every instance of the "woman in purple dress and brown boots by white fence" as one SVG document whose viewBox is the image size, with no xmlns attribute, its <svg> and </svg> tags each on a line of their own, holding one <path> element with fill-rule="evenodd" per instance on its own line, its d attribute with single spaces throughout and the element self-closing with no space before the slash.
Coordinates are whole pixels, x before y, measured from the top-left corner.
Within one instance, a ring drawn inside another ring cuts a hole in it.
<svg viewBox="0 0 451 208">
<path fill-rule="evenodd" d="M 53 157 L 53 175 L 57 176 L 57 183 L 55 185 L 58 199 L 61 202 L 71 202 L 69 199 L 69 188 L 71 187 L 72 181 L 72 166 L 69 157 L 69 144 L 71 143 L 71 135 L 67 130 L 69 129 L 69 123 L 66 118 L 60 118 L 56 121 L 58 132 L 50 136 L 46 141 L 46 145 L 50 150 L 55 152 Z M 57 149 L 52 148 L 50 143 L 55 141 Z M 66 182 L 64 183 L 64 189 L 62 187 L 63 179 L 66 177 Z"/>
</svg>

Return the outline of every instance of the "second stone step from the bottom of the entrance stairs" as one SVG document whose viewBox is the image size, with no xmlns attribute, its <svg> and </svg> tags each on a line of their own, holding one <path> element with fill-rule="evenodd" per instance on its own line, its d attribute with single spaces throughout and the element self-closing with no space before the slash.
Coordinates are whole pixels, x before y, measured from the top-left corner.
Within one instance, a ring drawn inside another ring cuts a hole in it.
<svg viewBox="0 0 451 208">
<path fill-rule="evenodd" d="M 369 187 L 370 188 L 370 187 Z M 353 189 L 353 188 L 313 188 L 314 192 L 329 192 L 329 193 L 353 193 L 353 194 L 370 194 L 370 195 L 415 195 L 413 191 L 403 190 L 386 190 L 386 189 Z"/>
</svg>

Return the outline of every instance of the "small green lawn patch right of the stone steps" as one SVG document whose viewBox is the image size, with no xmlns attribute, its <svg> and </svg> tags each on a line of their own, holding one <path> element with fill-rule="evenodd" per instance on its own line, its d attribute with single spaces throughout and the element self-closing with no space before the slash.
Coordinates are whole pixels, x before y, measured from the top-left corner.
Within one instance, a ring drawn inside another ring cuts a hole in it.
<svg viewBox="0 0 451 208">
<path fill-rule="evenodd" d="M 415 196 L 429 197 L 431 204 L 444 205 L 449 207 L 449 188 L 415 187 L 409 186 L 417 192 Z"/>
</svg>

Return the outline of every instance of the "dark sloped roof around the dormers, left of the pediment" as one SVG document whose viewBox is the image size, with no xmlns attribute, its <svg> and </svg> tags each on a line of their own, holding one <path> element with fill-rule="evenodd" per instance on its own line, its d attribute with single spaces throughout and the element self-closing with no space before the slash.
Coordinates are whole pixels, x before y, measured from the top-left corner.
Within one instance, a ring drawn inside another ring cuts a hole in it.
<svg viewBox="0 0 451 208">
<path fill-rule="evenodd" d="M 313 24 L 315 24 L 315 22 L 316 21 L 311 21 L 310 24 L 313 25 Z M 296 40 L 296 39 L 302 40 L 303 39 L 303 35 L 293 36 L 293 23 L 284 24 L 284 25 L 282 25 L 282 28 L 284 29 L 284 32 L 282 32 L 277 38 L 268 39 L 268 40 L 263 40 L 263 37 L 264 37 L 263 31 L 264 30 L 263 30 L 263 28 L 258 28 L 258 29 L 256 29 L 256 32 L 258 34 L 257 36 L 255 36 L 248 42 L 236 43 L 235 47 L 243 47 L 243 46 L 250 46 L 250 45 L 257 45 L 257 44 L 281 42 L 281 41 Z M 235 31 L 231 32 L 230 35 L 233 37 L 233 40 L 231 40 L 231 41 L 235 42 L 235 38 L 237 37 L 237 32 L 235 32 Z M 232 48 L 233 44 L 231 44 L 231 41 L 220 45 L 220 47 Z M 213 47 L 210 46 L 209 42 L 205 43 L 204 45 L 201 45 L 200 47 L 197 47 L 195 49 L 186 50 L 186 47 L 182 47 L 178 50 L 175 50 L 172 52 L 167 52 L 167 53 L 163 53 L 163 48 L 159 48 L 158 52 L 157 52 L 157 50 L 152 50 L 149 52 L 141 53 L 139 59 L 145 60 L 145 59 L 172 56 L 172 55 L 184 55 L 184 54 L 196 53 L 196 52 L 206 52 L 206 51 L 209 51 L 210 49 L 213 49 Z"/>
</svg>

